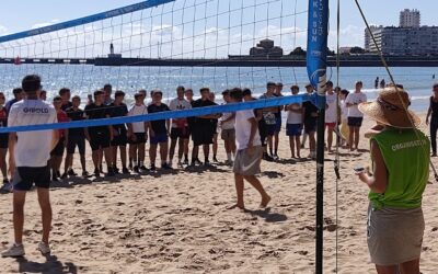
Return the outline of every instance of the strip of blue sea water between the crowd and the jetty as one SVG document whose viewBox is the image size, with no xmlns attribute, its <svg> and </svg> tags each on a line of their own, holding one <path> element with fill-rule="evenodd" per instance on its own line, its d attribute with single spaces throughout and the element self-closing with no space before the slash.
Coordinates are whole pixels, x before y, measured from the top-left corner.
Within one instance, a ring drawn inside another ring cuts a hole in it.
<svg viewBox="0 0 438 274">
<path fill-rule="evenodd" d="M 426 112 L 431 95 L 431 87 L 438 68 L 391 68 L 395 82 L 401 83 L 410 92 L 411 107 L 417 112 Z M 0 65 L 0 91 L 8 98 L 12 96 L 12 89 L 20 87 L 21 79 L 27 73 L 37 73 L 43 79 L 43 88 L 47 91 L 48 100 L 57 94 L 60 88 L 70 88 L 72 94 L 79 94 L 83 102 L 87 95 L 111 83 L 113 90 L 123 90 L 127 94 L 128 103 L 134 94 L 140 90 L 160 89 L 164 94 L 164 102 L 175 96 L 177 85 L 192 88 L 195 96 L 199 95 L 201 87 L 210 88 L 221 102 L 220 93 L 234 87 L 250 88 L 255 96 L 264 93 L 266 82 L 283 82 L 285 95 L 290 94 L 290 85 L 298 84 L 304 91 L 309 82 L 306 68 L 265 68 L 265 67 L 96 67 L 92 65 Z M 369 100 L 376 99 L 378 90 L 374 80 L 390 78 L 381 68 L 341 68 L 337 77 L 336 68 L 327 69 L 328 79 L 334 85 L 354 90 L 355 82 L 364 82 L 364 92 Z"/>
</svg>

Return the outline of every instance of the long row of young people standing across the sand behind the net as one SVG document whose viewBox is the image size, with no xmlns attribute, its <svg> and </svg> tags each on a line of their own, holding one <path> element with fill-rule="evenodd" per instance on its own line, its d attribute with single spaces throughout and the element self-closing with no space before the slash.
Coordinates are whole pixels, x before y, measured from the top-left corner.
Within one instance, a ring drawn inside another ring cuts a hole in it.
<svg viewBox="0 0 438 274">
<path fill-rule="evenodd" d="M 266 92 L 258 99 L 283 96 L 283 84 L 268 82 Z M 332 153 L 334 144 L 339 144 L 351 151 L 358 149 L 360 127 L 364 114 L 358 110 L 360 103 L 367 102 L 367 96 L 361 92 L 362 83 L 356 82 L 355 91 L 349 93 L 341 88 L 333 88 L 331 81 L 326 84 L 326 112 L 325 127 L 327 130 L 326 150 Z M 232 103 L 232 90 L 224 90 L 223 104 Z M 300 88 L 290 87 L 290 94 L 298 95 Z M 313 93 L 311 84 L 306 85 L 306 92 Z M 125 103 L 125 93 L 116 91 L 113 94 L 111 84 L 105 84 L 102 90 L 95 91 L 88 98 L 85 107 L 81 109 L 81 98 L 71 98 L 68 88 L 59 90 L 53 99 L 53 106 L 57 114 L 57 122 L 80 122 L 83 119 L 102 119 L 123 116 L 145 115 L 168 111 L 182 111 L 196 107 L 217 105 L 215 95 L 208 88 L 199 90 L 200 98 L 194 100 L 194 91 L 183 85 L 176 88 L 175 98 L 169 106 L 162 102 L 163 93 L 160 90 L 150 91 L 150 103 L 147 103 L 148 92 L 139 90 L 135 95 L 135 102 L 128 106 Z M 430 98 L 430 107 L 427 123 L 430 122 L 431 149 L 436 156 L 435 137 L 438 129 L 438 84 L 434 85 L 434 96 Z M 25 98 L 22 88 L 13 90 L 13 99 L 5 102 L 5 96 L 0 93 L 0 123 L 9 125 L 9 112 L 16 102 Z M 38 90 L 37 96 L 46 100 L 46 92 Z M 253 98 L 251 90 L 242 90 L 242 100 L 257 100 Z M 309 147 L 307 158 L 315 158 L 315 132 L 319 110 L 311 102 L 296 103 L 275 107 L 253 110 L 257 122 L 257 132 L 261 137 L 262 159 L 277 161 L 278 144 L 280 139 L 283 113 L 286 116 L 286 136 L 289 139 L 290 157 L 301 158 L 304 146 Z M 171 170 L 174 168 L 210 165 L 218 162 L 218 136 L 223 140 L 223 149 L 227 155 L 224 163 L 232 165 L 237 155 L 235 144 L 235 113 L 219 113 L 198 117 L 185 117 L 175 119 L 162 119 L 153 122 L 136 122 L 110 126 L 90 126 L 87 128 L 69 128 L 58 130 L 58 141 L 50 152 L 50 179 L 61 181 L 68 176 L 78 176 L 73 170 L 73 157 L 78 148 L 81 175 L 83 178 L 101 175 L 114 176 L 118 173 L 129 174 L 154 172 L 158 169 Z M 434 135 L 435 133 L 435 135 Z M 303 136 L 302 136 L 303 134 Z M 191 145 L 192 140 L 192 145 Z M 8 176 L 7 152 L 9 134 L 0 135 L 0 170 L 3 175 L 4 186 L 10 190 Z M 85 163 L 87 142 L 92 151 L 93 170 L 88 170 Z M 146 157 L 147 144 L 149 146 L 148 159 Z M 199 157 L 201 148 L 203 161 Z M 191 151 L 192 149 L 192 151 Z M 211 153 L 212 152 L 212 153 Z M 176 156 L 176 165 L 174 165 Z M 281 156 L 288 158 L 289 156 Z M 149 165 L 146 163 L 149 162 Z M 158 162 L 158 163 L 157 163 Z M 64 163 L 64 169 L 62 169 Z M 106 167 L 104 167 L 104 164 Z M 105 169 L 104 169 L 105 168 Z M 62 172 L 61 172 L 62 171 Z"/>
</svg>

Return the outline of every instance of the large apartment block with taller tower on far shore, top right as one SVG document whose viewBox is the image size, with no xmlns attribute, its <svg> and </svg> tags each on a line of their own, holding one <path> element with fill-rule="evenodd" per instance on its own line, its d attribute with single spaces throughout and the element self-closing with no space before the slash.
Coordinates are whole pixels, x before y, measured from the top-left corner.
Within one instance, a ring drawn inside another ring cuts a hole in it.
<svg viewBox="0 0 438 274">
<path fill-rule="evenodd" d="M 384 55 L 438 55 L 438 26 L 420 26 L 418 10 L 400 13 L 400 26 L 371 26 L 377 46 Z M 365 49 L 378 53 L 368 30 L 365 30 Z"/>
</svg>

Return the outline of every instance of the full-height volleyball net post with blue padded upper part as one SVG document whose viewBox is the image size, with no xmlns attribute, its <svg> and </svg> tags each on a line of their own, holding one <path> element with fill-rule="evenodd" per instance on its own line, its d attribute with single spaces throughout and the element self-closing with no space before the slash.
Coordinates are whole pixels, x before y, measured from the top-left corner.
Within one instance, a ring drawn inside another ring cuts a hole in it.
<svg viewBox="0 0 438 274">
<path fill-rule="evenodd" d="M 308 16 L 307 67 L 310 82 L 316 90 L 316 106 L 319 109 L 316 127 L 315 273 L 322 274 L 324 250 L 324 132 L 328 0 L 309 0 Z"/>
</svg>

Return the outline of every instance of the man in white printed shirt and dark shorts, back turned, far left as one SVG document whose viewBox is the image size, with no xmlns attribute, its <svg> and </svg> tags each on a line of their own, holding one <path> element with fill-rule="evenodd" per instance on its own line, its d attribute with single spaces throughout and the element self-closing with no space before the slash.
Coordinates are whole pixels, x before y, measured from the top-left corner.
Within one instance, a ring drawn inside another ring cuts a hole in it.
<svg viewBox="0 0 438 274">
<path fill-rule="evenodd" d="M 8 126 L 26 126 L 57 123 L 55 107 L 38 99 L 42 89 L 39 76 L 26 76 L 22 81 L 25 99 L 11 106 Z M 13 181 L 13 227 L 14 243 L 2 256 L 23 256 L 24 204 L 26 193 L 36 186 L 38 204 L 42 209 L 42 241 L 37 250 L 43 255 L 50 253 L 49 235 L 51 228 L 50 205 L 50 151 L 58 144 L 58 130 L 37 130 L 10 133 L 10 170 Z"/>
</svg>

